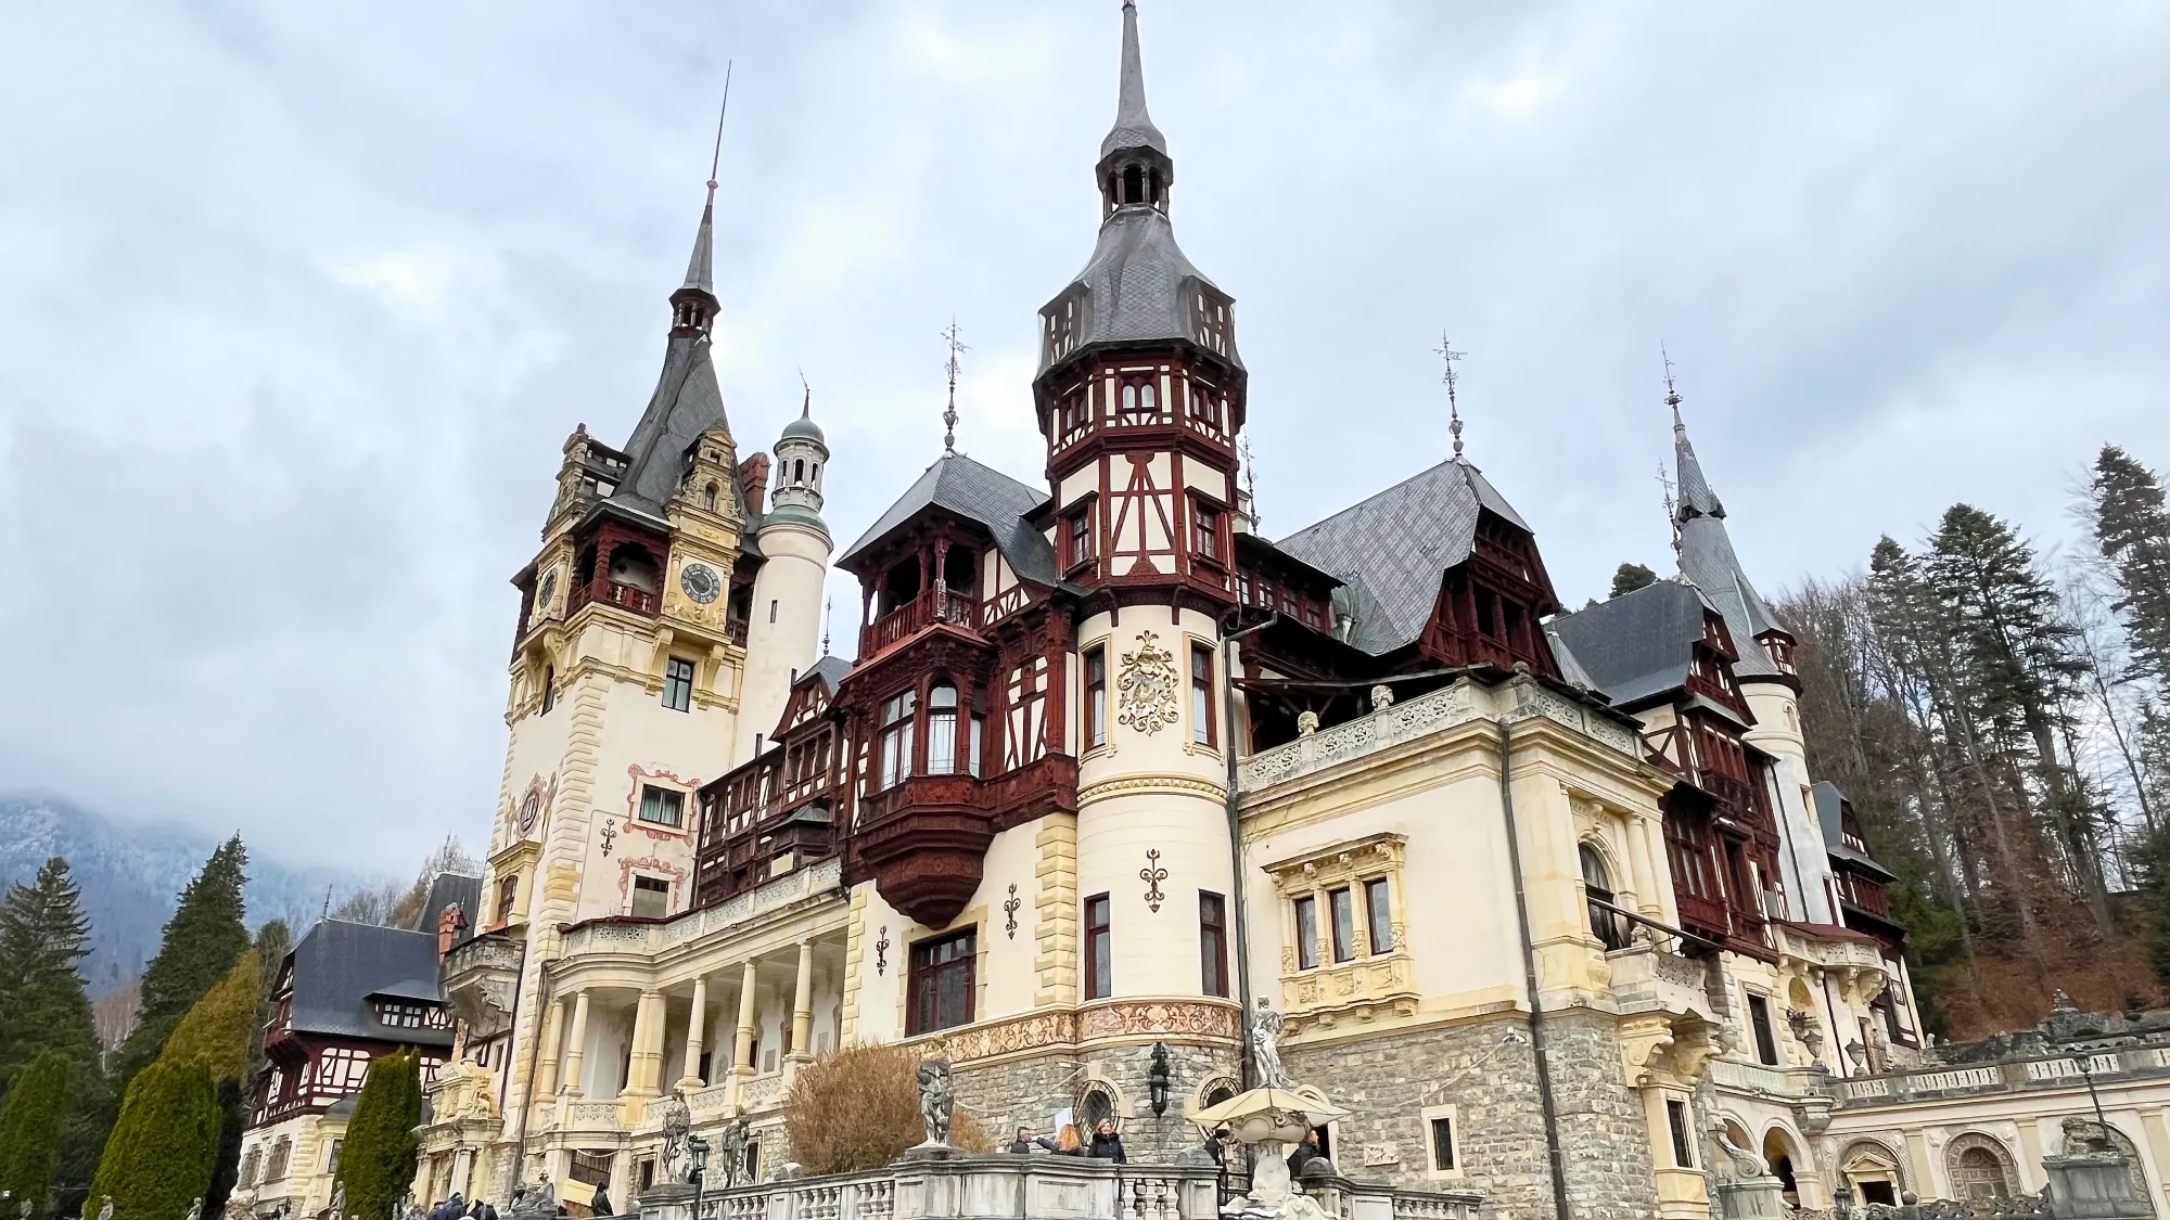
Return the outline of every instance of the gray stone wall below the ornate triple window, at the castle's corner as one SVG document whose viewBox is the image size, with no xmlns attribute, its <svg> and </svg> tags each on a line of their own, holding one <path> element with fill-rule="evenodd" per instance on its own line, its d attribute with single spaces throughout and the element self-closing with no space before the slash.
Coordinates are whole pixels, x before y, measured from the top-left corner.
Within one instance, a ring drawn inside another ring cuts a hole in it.
<svg viewBox="0 0 2170 1220">
<path fill-rule="evenodd" d="M 1456 1185 L 1484 1192 L 1484 1209 L 1552 1218 L 1536 1057 L 1528 1022 L 1506 1016 L 1480 1025 L 1287 1049 L 1289 1075 L 1350 1109 L 1335 1131 L 1335 1166 L 1352 1179 L 1400 1187 Z M 1656 1216 L 1643 1103 L 1623 1083 L 1619 1042 L 1601 1014 L 1552 1014 L 1545 1020 L 1554 1105 L 1575 1216 L 1638 1220 Z M 1463 1181 L 1439 1183 L 1421 1111 L 1454 1105 Z"/>
</svg>

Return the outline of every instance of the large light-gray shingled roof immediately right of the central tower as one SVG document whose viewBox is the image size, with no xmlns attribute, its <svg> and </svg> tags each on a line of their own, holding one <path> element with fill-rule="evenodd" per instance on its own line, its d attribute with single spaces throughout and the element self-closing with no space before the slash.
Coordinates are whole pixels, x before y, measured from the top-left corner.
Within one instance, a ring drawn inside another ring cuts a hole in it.
<svg viewBox="0 0 2170 1220">
<path fill-rule="evenodd" d="M 1345 582 L 1335 608 L 1354 619 L 1350 645 L 1380 656 L 1424 634 L 1439 580 L 1476 545 L 1478 510 L 1530 528 L 1482 471 L 1445 460 L 1274 545 Z"/>
</svg>

